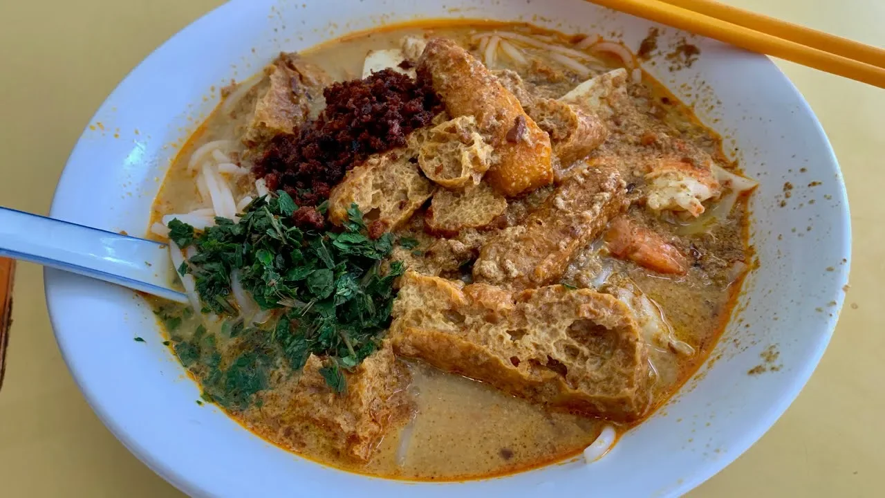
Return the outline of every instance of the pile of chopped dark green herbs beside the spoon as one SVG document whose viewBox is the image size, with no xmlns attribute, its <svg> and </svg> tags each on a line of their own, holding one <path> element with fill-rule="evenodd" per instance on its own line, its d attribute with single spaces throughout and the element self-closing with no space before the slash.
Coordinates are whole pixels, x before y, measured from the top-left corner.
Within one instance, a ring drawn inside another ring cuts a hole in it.
<svg viewBox="0 0 885 498">
<path fill-rule="evenodd" d="M 278 197 L 252 201 L 238 223 L 216 218 L 215 226 L 199 234 L 175 223 L 173 240 L 182 248 L 196 248 L 182 269 L 194 276 L 205 312 L 228 317 L 221 337 L 248 336 L 238 340 L 254 342 L 229 365 L 210 365 L 201 376 L 205 395 L 222 406 L 244 407 L 265 388 L 278 357 L 297 371 L 310 354 L 319 356 L 320 374 L 335 392 L 343 393 L 344 371 L 372 354 L 389 326 L 393 282 L 404 271 L 398 261 L 382 270 L 393 237 L 368 237 L 356 204 L 347 210 L 342 232 L 301 230 L 291 218 L 296 209 L 295 201 L 280 191 Z M 169 226 L 172 230 L 173 223 Z M 408 239 L 399 243 L 411 244 Z M 277 310 L 273 330 L 243 330 L 230 287 L 235 270 L 261 309 Z M 201 342 L 204 333 L 197 331 L 194 338 L 174 345 L 186 368 L 197 361 L 212 362 L 212 347 Z"/>
</svg>

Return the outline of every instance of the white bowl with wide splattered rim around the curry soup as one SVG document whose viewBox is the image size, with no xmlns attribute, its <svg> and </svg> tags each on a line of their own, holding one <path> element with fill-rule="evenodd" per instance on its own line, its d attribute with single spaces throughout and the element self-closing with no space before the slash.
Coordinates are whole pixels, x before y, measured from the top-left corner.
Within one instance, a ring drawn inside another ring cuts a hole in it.
<svg viewBox="0 0 885 498">
<path fill-rule="evenodd" d="M 380 24 L 452 17 L 615 35 L 634 50 L 654 26 L 581 0 L 231 2 L 163 44 L 113 91 L 68 160 L 51 214 L 145 233 L 175 145 L 212 109 L 222 84 L 257 72 L 281 50 Z M 405 484 L 312 463 L 252 436 L 219 409 L 197 406 L 196 385 L 160 344 L 150 308 L 133 292 L 47 270 L 52 325 L 89 404 L 144 463 L 194 495 L 666 496 L 710 478 L 781 416 L 820 360 L 847 282 L 849 212 L 820 123 L 771 61 L 672 28 L 663 32 L 662 47 L 688 37 L 700 58 L 672 74 L 663 56 L 644 67 L 687 101 L 699 99 L 702 118 L 762 182 L 751 201 L 758 268 L 712 354 L 718 360 L 603 460 L 459 484 Z M 790 198 L 786 182 L 794 185 Z M 766 351 L 777 358 L 764 362 Z M 770 371 L 748 375 L 758 365 Z"/>
</svg>

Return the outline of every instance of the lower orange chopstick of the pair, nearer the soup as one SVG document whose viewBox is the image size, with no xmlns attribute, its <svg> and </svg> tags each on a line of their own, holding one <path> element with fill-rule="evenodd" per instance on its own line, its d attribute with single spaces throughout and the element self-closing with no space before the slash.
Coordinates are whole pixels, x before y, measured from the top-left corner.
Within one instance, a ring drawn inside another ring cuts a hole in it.
<svg viewBox="0 0 885 498">
<path fill-rule="evenodd" d="M 720 42 L 730 43 L 749 51 L 783 58 L 803 66 L 813 67 L 820 71 L 838 74 L 858 82 L 865 82 L 879 88 L 885 88 L 885 68 L 861 62 L 853 57 L 843 57 L 830 51 L 790 41 L 778 35 L 716 19 L 715 17 L 673 4 L 667 4 L 660 0 L 589 1 L 616 11 L 627 12 L 637 17 L 650 19 L 667 26 L 678 27 L 697 35 L 707 36 Z M 761 25 L 757 26 L 760 29 L 766 29 Z M 874 47 L 868 47 L 868 49 L 881 51 Z"/>
</svg>

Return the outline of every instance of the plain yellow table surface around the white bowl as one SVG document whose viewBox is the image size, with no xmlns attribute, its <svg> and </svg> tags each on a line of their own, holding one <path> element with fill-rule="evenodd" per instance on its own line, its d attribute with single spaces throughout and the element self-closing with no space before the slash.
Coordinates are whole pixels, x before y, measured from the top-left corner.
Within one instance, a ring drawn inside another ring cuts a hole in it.
<svg viewBox="0 0 885 498">
<path fill-rule="evenodd" d="M 73 144 L 104 97 L 150 51 L 219 3 L 0 2 L 0 205 L 45 214 Z M 881 0 L 729 3 L 885 45 Z M 797 401 L 691 495 L 881 496 L 885 90 L 779 64 L 820 117 L 842 164 L 854 229 L 851 287 L 835 338 Z M 0 495 L 179 496 L 83 400 L 52 337 L 41 268 L 19 265 L 14 300 L 0 391 Z"/>
</svg>

